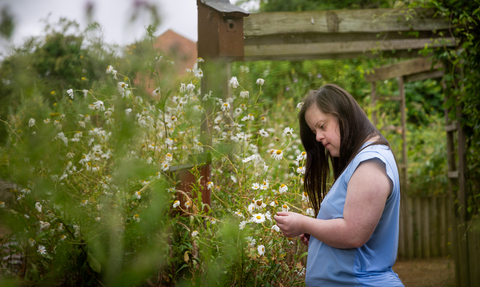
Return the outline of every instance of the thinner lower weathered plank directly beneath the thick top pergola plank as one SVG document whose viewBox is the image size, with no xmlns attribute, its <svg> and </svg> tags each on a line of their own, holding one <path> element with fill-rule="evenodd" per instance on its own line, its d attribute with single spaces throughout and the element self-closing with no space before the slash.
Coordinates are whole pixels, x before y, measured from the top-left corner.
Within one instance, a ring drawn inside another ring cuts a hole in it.
<svg viewBox="0 0 480 287">
<path fill-rule="evenodd" d="M 445 40 L 452 45 L 454 43 L 454 38 L 446 38 Z M 326 55 L 343 53 L 377 53 L 378 51 L 422 49 L 423 47 L 425 47 L 425 45 L 429 45 L 431 47 L 442 46 L 440 42 L 432 39 L 302 43 L 254 46 L 246 45 L 245 58 L 292 55 Z M 429 68 L 430 67 L 428 67 L 428 69 Z"/>
</svg>

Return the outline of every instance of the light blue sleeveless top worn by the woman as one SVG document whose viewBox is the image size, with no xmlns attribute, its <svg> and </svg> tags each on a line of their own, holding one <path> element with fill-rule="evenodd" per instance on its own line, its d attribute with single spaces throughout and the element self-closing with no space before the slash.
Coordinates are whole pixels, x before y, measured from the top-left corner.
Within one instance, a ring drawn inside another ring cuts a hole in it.
<svg viewBox="0 0 480 287">
<path fill-rule="evenodd" d="M 317 218 L 343 218 L 348 182 L 358 165 L 370 159 L 385 163 L 386 173 L 393 183 L 380 221 L 372 237 L 359 248 L 338 249 L 311 236 L 305 277 L 309 287 L 404 286 L 392 270 L 398 248 L 400 181 L 395 159 L 388 147 L 372 145 L 362 150 L 325 196 Z"/>
</svg>

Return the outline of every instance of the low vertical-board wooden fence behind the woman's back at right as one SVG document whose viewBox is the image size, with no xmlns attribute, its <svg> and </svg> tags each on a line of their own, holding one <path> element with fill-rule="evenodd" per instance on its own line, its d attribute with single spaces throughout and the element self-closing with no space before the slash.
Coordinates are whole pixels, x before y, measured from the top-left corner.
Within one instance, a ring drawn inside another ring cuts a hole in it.
<svg viewBox="0 0 480 287">
<path fill-rule="evenodd" d="M 400 259 L 452 255 L 455 216 L 449 194 L 424 197 L 402 194 L 400 206 Z"/>
</svg>

